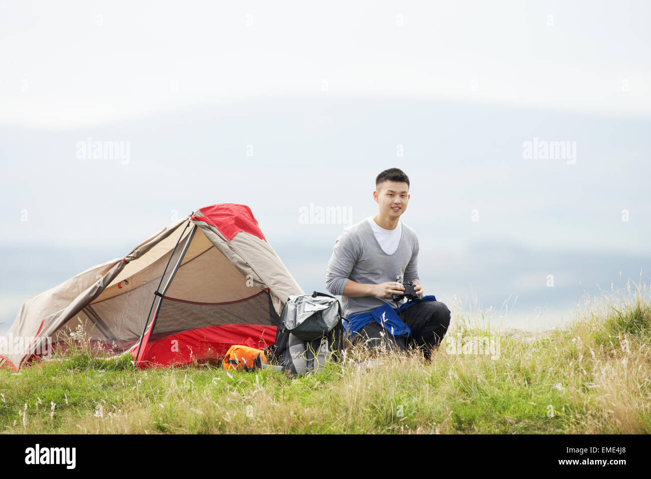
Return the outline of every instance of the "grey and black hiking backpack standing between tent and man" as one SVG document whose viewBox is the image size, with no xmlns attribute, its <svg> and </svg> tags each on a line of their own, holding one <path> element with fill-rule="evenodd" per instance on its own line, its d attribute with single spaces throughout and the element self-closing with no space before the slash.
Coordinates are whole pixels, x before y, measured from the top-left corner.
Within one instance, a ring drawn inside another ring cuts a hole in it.
<svg viewBox="0 0 651 479">
<path fill-rule="evenodd" d="M 341 305 L 337 298 L 317 293 L 290 296 L 281 313 L 275 343 L 265 351 L 268 366 L 305 374 L 339 361 L 343 345 Z"/>
</svg>

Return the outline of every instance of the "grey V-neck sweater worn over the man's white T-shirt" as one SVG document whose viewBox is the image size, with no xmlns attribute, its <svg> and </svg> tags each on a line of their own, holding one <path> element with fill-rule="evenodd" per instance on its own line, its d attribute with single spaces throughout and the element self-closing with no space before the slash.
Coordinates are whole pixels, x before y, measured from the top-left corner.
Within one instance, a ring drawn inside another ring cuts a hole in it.
<svg viewBox="0 0 651 479">
<path fill-rule="evenodd" d="M 404 223 L 398 249 L 392 255 L 382 250 L 367 220 L 344 229 L 335 242 L 326 273 L 327 290 L 333 295 L 342 295 L 344 316 L 372 311 L 384 303 L 391 304 L 395 309 L 396 304 L 391 297 L 351 298 L 343 296 L 344 287 L 348 280 L 366 284 L 396 281 L 398 274 L 404 281 L 420 281 L 418 248 L 416 232 Z"/>
</svg>

